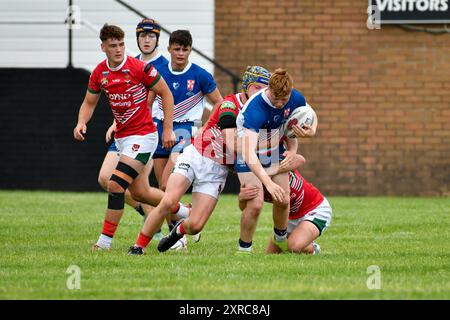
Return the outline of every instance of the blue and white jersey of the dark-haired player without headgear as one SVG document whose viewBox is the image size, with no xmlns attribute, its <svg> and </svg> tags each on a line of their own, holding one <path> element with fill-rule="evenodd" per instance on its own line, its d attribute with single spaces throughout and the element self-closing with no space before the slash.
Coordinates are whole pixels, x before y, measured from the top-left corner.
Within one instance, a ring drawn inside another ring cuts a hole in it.
<svg viewBox="0 0 450 320">
<path fill-rule="evenodd" d="M 213 76 L 202 67 L 191 62 L 180 72 L 173 71 L 170 63 L 157 68 L 157 70 L 173 94 L 173 121 L 200 121 L 205 108 L 204 97 L 217 87 Z M 157 97 L 157 99 L 160 112 L 158 118 L 162 120 L 162 101 L 160 97 Z"/>
</svg>

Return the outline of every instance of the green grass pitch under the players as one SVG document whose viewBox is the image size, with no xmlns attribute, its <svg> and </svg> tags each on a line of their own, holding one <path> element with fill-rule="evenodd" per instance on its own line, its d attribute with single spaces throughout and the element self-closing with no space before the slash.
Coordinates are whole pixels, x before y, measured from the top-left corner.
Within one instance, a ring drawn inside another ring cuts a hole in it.
<svg viewBox="0 0 450 320">
<path fill-rule="evenodd" d="M 0 299 L 450 299 L 450 198 L 328 199 L 317 256 L 264 254 L 270 205 L 254 253 L 236 255 L 237 199 L 222 195 L 199 243 L 130 257 L 142 219 L 129 207 L 113 250 L 91 251 L 106 193 L 0 191 Z"/>
</svg>

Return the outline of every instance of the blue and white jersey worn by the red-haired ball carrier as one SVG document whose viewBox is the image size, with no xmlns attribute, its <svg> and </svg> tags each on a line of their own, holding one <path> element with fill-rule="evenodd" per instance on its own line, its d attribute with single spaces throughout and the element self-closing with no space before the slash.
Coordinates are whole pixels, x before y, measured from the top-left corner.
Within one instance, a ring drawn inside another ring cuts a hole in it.
<svg viewBox="0 0 450 320">
<path fill-rule="evenodd" d="M 236 119 L 238 137 L 243 137 L 246 128 L 259 133 L 260 142 L 269 141 L 273 134 L 283 134 L 280 130 L 294 109 L 306 106 L 305 97 L 293 89 L 289 101 L 277 109 L 266 96 L 266 90 L 262 89 L 251 97 L 239 112 Z"/>
</svg>

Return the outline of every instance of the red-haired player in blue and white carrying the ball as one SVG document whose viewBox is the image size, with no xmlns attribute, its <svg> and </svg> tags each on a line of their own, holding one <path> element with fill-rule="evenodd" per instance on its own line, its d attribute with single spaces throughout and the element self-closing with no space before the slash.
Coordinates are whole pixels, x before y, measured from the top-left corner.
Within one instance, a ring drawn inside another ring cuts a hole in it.
<svg viewBox="0 0 450 320">
<path fill-rule="evenodd" d="M 269 87 L 255 94 L 239 112 L 236 125 L 240 154 L 235 169 L 241 185 L 258 187 L 258 196 L 247 201 L 241 215 L 239 251 L 252 250 L 253 234 L 264 203 L 263 185 L 274 199 L 274 243 L 283 249 L 287 247 L 289 179 L 286 172 L 278 173 L 278 168 L 282 157 L 287 164 L 294 160 L 297 140 L 286 138 L 284 151 L 280 150 L 279 137 L 292 111 L 305 105 L 303 95 L 293 89 L 292 77 L 277 69 L 270 77 Z M 317 121 L 312 127 L 294 127 L 297 137 L 311 137 L 315 135 Z M 266 149 L 266 154 L 258 153 L 261 149 Z"/>
</svg>

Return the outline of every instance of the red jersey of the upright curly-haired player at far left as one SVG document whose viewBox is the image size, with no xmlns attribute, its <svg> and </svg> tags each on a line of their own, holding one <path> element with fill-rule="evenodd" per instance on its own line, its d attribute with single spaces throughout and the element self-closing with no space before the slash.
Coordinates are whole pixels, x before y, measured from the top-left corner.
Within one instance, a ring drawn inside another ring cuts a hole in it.
<svg viewBox="0 0 450 320">
<path fill-rule="evenodd" d="M 103 91 L 108 97 L 116 121 L 116 138 L 156 131 L 147 100 L 149 89 L 161 76 L 151 64 L 145 67 L 145 62 L 130 56 L 125 56 L 117 68 L 109 67 L 105 59 L 89 78 L 89 92 Z"/>
</svg>

